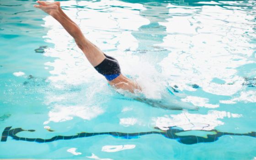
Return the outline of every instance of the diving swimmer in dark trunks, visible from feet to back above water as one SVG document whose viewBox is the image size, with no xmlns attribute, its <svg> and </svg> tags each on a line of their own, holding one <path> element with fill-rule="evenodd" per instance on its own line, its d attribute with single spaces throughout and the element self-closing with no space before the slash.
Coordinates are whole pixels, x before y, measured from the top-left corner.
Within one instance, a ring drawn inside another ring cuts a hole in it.
<svg viewBox="0 0 256 160">
<path fill-rule="evenodd" d="M 69 35 L 75 39 L 75 43 L 83 51 L 91 65 L 101 75 L 105 76 L 107 82 L 112 87 L 127 90 L 131 93 L 134 93 L 136 90 L 141 90 L 135 81 L 127 78 L 121 73 L 120 66 L 115 58 L 104 54 L 96 45 L 85 38 L 79 26 L 63 12 L 59 1 L 46 2 L 38 0 L 37 3 L 39 5 L 34 5 L 34 7 L 51 15 L 64 27 Z"/>
</svg>

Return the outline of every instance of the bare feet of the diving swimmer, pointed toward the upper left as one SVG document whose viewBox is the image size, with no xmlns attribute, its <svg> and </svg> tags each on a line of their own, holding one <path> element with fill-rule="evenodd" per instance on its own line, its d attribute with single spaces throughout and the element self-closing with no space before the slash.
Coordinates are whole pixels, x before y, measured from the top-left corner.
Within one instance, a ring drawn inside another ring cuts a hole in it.
<svg viewBox="0 0 256 160">
<path fill-rule="evenodd" d="M 39 8 L 46 12 L 49 15 L 55 15 L 58 14 L 59 9 L 60 9 L 60 3 L 59 1 L 57 2 L 46 2 L 46 1 L 41 1 L 37 0 L 37 3 L 39 5 L 34 5 L 34 7 Z"/>
</svg>

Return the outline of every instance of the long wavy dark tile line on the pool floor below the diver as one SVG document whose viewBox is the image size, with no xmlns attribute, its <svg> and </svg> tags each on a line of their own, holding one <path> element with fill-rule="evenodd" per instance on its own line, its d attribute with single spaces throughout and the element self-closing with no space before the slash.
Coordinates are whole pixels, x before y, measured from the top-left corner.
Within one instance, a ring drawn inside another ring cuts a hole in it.
<svg viewBox="0 0 256 160">
<path fill-rule="evenodd" d="M 160 130 L 155 127 L 155 129 Z M 169 127 L 168 130 L 165 131 L 149 131 L 149 132 L 137 132 L 137 133 L 123 133 L 123 132 L 81 132 L 76 135 L 64 136 L 64 135 L 56 135 L 50 139 L 41 139 L 41 138 L 26 138 L 19 137 L 16 134 L 22 131 L 34 132 L 36 130 L 23 130 L 22 128 L 11 129 L 11 127 L 6 127 L 2 132 L 1 142 L 6 142 L 7 138 L 10 136 L 14 140 L 22 140 L 28 142 L 37 142 L 37 143 L 48 143 L 56 140 L 71 140 L 76 138 L 85 138 L 92 137 L 97 135 L 112 135 L 115 138 L 123 138 L 123 139 L 134 139 L 139 138 L 143 135 L 163 135 L 168 139 L 177 140 L 179 143 L 192 145 L 197 143 L 208 143 L 219 140 L 219 137 L 224 135 L 234 135 L 234 136 L 250 136 L 256 138 L 256 132 L 252 131 L 249 133 L 229 133 L 229 132 L 220 132 L 218 130 L 209 130 L 209 133 L 215 132 L 216 134 L 207 134 L 206 137 L 196 136 L 196 135 L 176 135 L 177 133 L 186 132 L 188 130 L 176 129 L 175 127 Z M 200 130 L 197 130 L 200 131 Z M 205 132 L 205 131 L 204 131 Z"/>
</svg>

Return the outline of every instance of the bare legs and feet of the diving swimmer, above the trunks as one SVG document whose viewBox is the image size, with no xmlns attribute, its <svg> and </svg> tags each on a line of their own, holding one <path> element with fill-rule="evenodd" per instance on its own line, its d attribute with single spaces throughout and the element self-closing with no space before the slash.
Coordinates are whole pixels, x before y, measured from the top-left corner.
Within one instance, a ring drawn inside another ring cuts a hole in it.
<svg viewBox="0 0 256 160">
<path fill-rule="evenodd" d="M 69 17 L 61 10 L 58 2 L 43 3 L 43 1 L 37 1 L 40 5 L 34 5 L 36 8 L 40 8 L 44 12 L 53 16 L 58 20 L 64 29 L 75 39 L 75 43 L 84 52 L 86 58 L 89 60 L 92 66 L 99 65 L 106 57 L 103 52 L 85 38 L 82 31 Z"/>
</svg>

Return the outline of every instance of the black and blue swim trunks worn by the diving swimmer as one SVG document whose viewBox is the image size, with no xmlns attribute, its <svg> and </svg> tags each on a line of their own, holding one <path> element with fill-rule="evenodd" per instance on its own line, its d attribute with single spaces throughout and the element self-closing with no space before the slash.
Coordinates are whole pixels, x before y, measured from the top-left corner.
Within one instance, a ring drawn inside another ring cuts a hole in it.
<svg viewBox="0 0 256 160">
<path fill-rule="evenodd" d="M 105 55 L 105 54 L 104 54 Z M 106 58 L 94 68 L 101 74 L 104 75 L 107 80 L 114 80 L 121 74 L 121 69 L 118 61 L 109 56 L 105 55 Z"/>
</svg>

